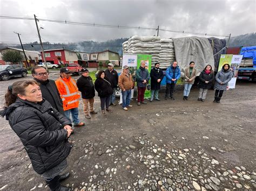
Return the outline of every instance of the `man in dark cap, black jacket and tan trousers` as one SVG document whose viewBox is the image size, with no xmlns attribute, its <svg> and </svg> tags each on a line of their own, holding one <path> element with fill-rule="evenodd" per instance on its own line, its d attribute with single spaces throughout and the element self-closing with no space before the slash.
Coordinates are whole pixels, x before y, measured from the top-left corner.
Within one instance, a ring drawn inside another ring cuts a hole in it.
<svg viewBox="0 0 256 191">
<path fill-rule="evenodd" d="M 92 78 L 89 76 L 89 71 L 86 68 L 82 68 L 80 74 L 82 74 L 82 76 L 77 80 L 77 87 L 82 93 L 85 117 L 90 119 L 90 114 L 97 114 L 97 112 L 93 110 L 95 88 Z"/>
</svg>

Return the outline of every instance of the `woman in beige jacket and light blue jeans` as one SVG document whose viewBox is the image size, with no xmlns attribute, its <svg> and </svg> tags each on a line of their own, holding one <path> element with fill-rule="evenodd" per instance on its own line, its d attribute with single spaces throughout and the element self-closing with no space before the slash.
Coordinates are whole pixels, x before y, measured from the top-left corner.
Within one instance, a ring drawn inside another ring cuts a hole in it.
<svg viewBox="0 0 256 191">
<path fill-rule="evenodd" d="M 184 91 L 183 91 L 183 100 L 188 100 L 188 95 L 190 95 L 190 89 L 194 84 L 194 79 L 197 76 L 197 70 L 194 68 L 194 61 L 190 62 L 190 66 L 185 69 L 184 77 Z"/>
</svg>

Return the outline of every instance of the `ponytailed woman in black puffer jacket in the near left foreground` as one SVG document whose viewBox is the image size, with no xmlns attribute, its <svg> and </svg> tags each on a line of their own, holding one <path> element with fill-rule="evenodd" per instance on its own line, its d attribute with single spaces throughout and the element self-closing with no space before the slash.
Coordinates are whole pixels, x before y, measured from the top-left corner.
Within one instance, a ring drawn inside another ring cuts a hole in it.
<svg viewBox="0 0 256 191">
<path fill-rule="evenodd" d="M 66 158 L 72 147 L 68 142 L 72 131 L 69 119 L 42 98 L 35 80 L 9 86 L 5 106 L 1 115 L 21 139 L 33 169 L 43 175 L 51 190 L 71 190 L 59 183 L 70 174 L 59 175 L 68 165 Z"/>
</svg>

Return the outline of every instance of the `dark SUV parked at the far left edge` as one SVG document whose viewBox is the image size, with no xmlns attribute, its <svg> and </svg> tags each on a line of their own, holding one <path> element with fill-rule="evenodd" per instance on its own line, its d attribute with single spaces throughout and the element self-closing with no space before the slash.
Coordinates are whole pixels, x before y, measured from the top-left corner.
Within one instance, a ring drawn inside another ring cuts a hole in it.
<svg viewBox="0 0 256 191">
<path fill-rule="evenodd" d="M 2 65 L 0 66 L 0 78 L 1 80 L 9 80 L 14 76 L 26 77 L 28 71 L 21 65 Z"/>
</svg>

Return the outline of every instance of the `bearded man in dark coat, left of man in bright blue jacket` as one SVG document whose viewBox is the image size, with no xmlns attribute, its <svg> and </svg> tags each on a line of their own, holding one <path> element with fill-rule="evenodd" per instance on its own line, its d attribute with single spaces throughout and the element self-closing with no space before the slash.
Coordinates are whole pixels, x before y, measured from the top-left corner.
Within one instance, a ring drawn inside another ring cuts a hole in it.
<svg viewBox="0 0 256 191">
<path fill-rule="evenodd" d="M 163 70 L 160 67 L 159 62 L 156 62 L 154 64 L 154 68 L 150 71 L 150 77 L 151 77 L 151 98 L 150 102 L 153 101 L 154 97 L 157 101 L 160 101 L 158 98 L 158 92 L 160 90 L 161 81 L 164 78 Z"/>
</svg>

